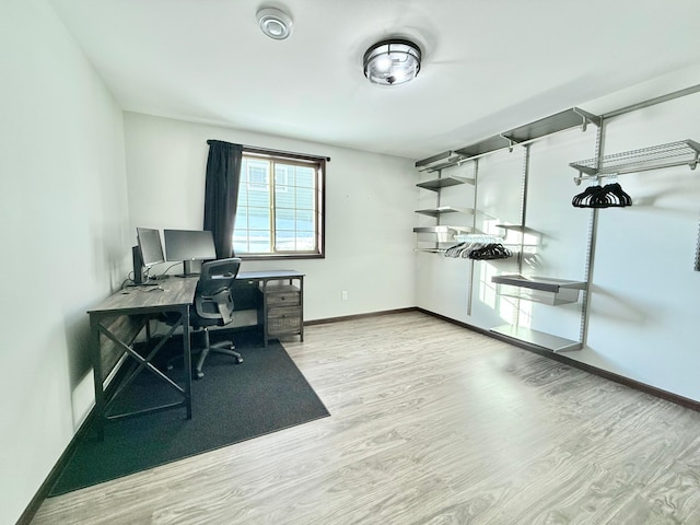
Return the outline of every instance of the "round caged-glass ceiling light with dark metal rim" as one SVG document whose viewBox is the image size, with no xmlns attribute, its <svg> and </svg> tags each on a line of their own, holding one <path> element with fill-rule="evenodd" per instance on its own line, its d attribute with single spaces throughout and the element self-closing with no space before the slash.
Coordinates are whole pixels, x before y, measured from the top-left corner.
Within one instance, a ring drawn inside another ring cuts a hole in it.
<svg viewBox="0 0 700 525">
<path fill-rule="evenodd" d="M 416 78 L 420 71 L 420 48 L 410 40 L 382 40 L 364 54 L 364 75 L 373 84 L 402 84 Z"/>
</svg>

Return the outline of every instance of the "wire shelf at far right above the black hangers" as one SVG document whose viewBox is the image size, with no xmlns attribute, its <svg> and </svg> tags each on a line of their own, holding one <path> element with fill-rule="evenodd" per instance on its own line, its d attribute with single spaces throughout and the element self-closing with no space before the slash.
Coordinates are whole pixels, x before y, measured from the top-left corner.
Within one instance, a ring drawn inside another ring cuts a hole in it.
<svg viewBox="0 0 700 525">
<path fill-rule="evenodd" d="M 653 145 L 639 150 L 605 155 L 598 160 L 586 159 L 569 165 L 579 172 L 574 182 L 597 178 L 605 175 L 646 172 L 665 167 L 688 165 L 695 170 L 700 159 L 700 143 L 695 140 L 680 140 L 667 144 Z"/>
</svg>

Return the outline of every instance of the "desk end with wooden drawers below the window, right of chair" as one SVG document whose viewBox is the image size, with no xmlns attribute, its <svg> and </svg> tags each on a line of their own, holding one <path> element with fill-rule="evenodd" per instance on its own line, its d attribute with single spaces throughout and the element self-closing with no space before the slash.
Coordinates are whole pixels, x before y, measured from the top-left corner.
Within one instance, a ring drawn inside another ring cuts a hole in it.
<svg viewBox="0 0 700 525">
<path fill-rule="evenodd" d="M 237 280 L 255 282 L 262 295 L 262 339 L 300 336 L 304 340 L 304 273 L 296 270 L 241 271 Z M 294 281 L 299 284 L 294 285 Z"/>
</svg>

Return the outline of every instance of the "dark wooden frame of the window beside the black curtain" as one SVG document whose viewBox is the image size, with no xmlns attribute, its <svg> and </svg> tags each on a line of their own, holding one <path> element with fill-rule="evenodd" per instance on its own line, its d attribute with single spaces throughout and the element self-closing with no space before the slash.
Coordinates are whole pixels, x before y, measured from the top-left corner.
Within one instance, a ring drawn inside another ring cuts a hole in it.
<svg viewBox="0 0 700 525">
<path fill-rule="evenodd" d="M 276 253 L 261 253 L 261 254 L 246 254 L 234 252 L 235 257 L 240 257 L 243 260 L 277 260 L 277 259 L 323 259 L 326 257 L 326 164 L 330 159 L 325 156 L 305 155 L 293 152 L 282 152 L 276 150 L 268 150 L 261 148 L 244 147 L 243 159 L 265 160 L 270 161 L 270 207 L 272 209 L 270 213 L 270 236 L 273 244 L 275 238 L 275 217 L 277 213 L 276 205 L 276 180 L 275 180 L 275 166 L 273 163 L 290 164 L 298 166 L 315 167 L 316 172 L 316 220 L 315 220 L 315 236 L 316 236 L 316 249 L 314 252 L 276 252 Z M 243 175 L 243 174 L 242 174 Z M 241 177 L 244 180 L 243 176 Z M 238 194 L 241 195 L 241 194 Z M 237 209 L 237 203 L 236 203 Z M 234 230 L 235 232 L 235 223 Z M 233 233 L 232 233 L 233 235 Z"/>
</svg>

